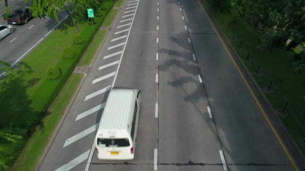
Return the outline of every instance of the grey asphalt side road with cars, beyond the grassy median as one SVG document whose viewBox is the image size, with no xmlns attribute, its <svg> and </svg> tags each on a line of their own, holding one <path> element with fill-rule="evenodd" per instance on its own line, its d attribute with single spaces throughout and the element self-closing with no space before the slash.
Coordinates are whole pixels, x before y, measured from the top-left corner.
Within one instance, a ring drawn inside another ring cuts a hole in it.
<svg viewBox="0 0 305 171">
<path fill-rule="evenodd" d="M 4 2 L 1 1 L 1 3 Z M 11 2 L 9 1 L 9 3 Z M 24 1 L 17 0 L 12 1 L 12 5 L 12 8 L 27 7 Z M 1 6 L 3 7 L 4 5 Z M 61 12 L 59 20 L 62 21 L 67 15 L 66 12 Z M 1 22 L 1 24 L 7 23 Z M 13 25 L 15 28 L 14 33 L 9 34 L 0 41 L 0 60 L 11 64 L 20 62 L 36 45 L 49 35 L 56 25 L 58 25 L 58 22 L 49 17 L 46 19 L 32 18 L 27 24 Z"/>
</svg>

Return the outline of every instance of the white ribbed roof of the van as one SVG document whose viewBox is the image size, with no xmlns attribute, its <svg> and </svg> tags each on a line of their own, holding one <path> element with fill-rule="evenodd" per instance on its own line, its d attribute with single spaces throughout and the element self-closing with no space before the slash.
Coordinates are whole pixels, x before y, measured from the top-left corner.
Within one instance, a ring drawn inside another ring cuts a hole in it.
<svg viewBox="0 0 305 171">
<path fill-rule="evenodd" d="M 125 129 L 133 114 L 136 89 L 112 89 L 108 95 L 99 129 Z M 129 125 L 131 127 L 131 125 Z"/>
</svg>

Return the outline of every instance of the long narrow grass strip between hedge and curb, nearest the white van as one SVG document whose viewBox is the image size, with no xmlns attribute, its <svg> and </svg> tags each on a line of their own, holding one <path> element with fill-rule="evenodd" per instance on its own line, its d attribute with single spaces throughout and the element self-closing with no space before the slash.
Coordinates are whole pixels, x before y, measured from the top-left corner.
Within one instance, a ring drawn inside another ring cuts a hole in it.
<svg viewBox="0 0 305 171">
<path fill-rule="evenodd" d="M 67 105 L 71 101 L 83 74 L 73 73 L 65 83 L 63 89 L 49 107 L 49 114 L 43 119 L 41 128 L 37 128 L 35 133 L 29 138 L 21 155 L 17 158 L 12 170 L 34 170 L 37 161 L 44 152 L 51 135 L 62 118 Z"/>
</svg>

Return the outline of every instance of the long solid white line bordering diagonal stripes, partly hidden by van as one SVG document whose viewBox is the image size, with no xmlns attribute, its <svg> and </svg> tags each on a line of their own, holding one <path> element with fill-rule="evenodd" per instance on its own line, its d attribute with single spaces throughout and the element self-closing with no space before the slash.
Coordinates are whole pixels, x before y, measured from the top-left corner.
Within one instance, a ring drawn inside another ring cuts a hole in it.
<svg viewBox="0 0 305 171">
<path fill-rule="evenodd" d="M 137 7 L 138 7 L 138 5 L 136 6 L 134 15 L 136 14 Z M 127 45 L 127 40 L 128 40 L 130 31 L 131 31 L 131 28 L 132 28 L 133 20 L 134 20 L 134 17 L 132 18 L 130 30 L 128 31 L 127 38 L 126 38 L 126 40 L 125 40 L 125 45 L 124 45 L 124 47 L 123 47 L 123 50 L 122 50 L 122 53 L 121 53 L 121 57 L 120 57 L 119 62 L 118 62 L 118 66 L 117 66 L 116 71 L 115 71 L 115 75 L 114 75 L 114 78 L 113 78 L 113 82 L 112 82 L 112 84 L 111 84 L 111 87 L 112 87 L 112 88 L 114 87 L 114 83 L 115 83 L 115 81 L 116 81 L 117 73 L 118 73 L 118 70 L 120 69 L 120 65 L 121 65 L 121 62 L 122 62 L 122 58 L 123 58 L 123 55 L 124 55 L 124 51 L 125 51 L 125 48 L 126 48 L 126 45 Z M 100 123 L 100 121 L 99 121 L 99 123 Z M 90 163 L 91 163 L 92 156 L 93 156 L 93 152 L 94 152 L 94 148 L 95 148 L 95 142 L 93 141 L 92 147 L 91 147 L 91 152 L 90 152 L 90 154 L 89 154 L 88 161 L 87 161 L 87 164 L 86 164 L 86 167 L 85 167 L 85 171 L 88 171 L 88 170 L 89 170 Z"/>
</svg>

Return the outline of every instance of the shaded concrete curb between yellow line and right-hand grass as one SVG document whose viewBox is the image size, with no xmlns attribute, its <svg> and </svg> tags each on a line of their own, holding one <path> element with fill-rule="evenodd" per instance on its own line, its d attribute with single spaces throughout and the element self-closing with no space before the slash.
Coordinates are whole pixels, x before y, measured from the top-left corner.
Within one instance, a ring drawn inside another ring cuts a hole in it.
<svg viewBox="0 0 305 171">
<path fill-rule="evenodd" d="M 234 57 L 236 63 L 239 65 L 239 68 L 242 70 L 244 73 L 244 76 L 246 78 L 246 81 L 249 83 L 251 86 L 251 89 L 254 91 L 254 93 L 257 95 L 259 103 L 262 105 L 264 110 L 266 111 L 272 125 L 274 128 L 277 130 L 277 133 L 279 134 L 282 142 L 285 144 L 285 147 L 288 149 L 290 155 L 292 155 L 294 161 L 296 162 L 296 165 L 299 167 L 300 170 L 305 170 L 305 166 L 303 163 L 305 163 L 305 156 L 299 149 L 298 145 L 294 141 L 293 137 L 290 135 L 289 131 L 287 128 L 284 126 L 282 123 L 281 119 L 279 116 L 276 114 L 276 111 L 274 110 L 273 106 L 265 96 L 264 92 L 262 89 L 259 87 L 257 82 L 255 81 L 254 77 L 252 76 L 251 72 L 248 70 L 242 59 L 239 57 L 238 53 L 236 50 L 233 48 L 232 44 L 230 43 L 229 39 L 227 36 L 224 34 L 220 26 L 217 24 L 215 19 L 213 18 L 212 13 L 210 10 L 206 7 L 206 5 L 200 0 L 200 3 L 202 6 L 205 8 L 208 17 L 211 19 L 213 22 L 214 26 L 217 29 L 217 32 L 219 35 L 222 37 L 224 40 L 227 48 L 229 49 L 230 53 Z"/>
</svg>

